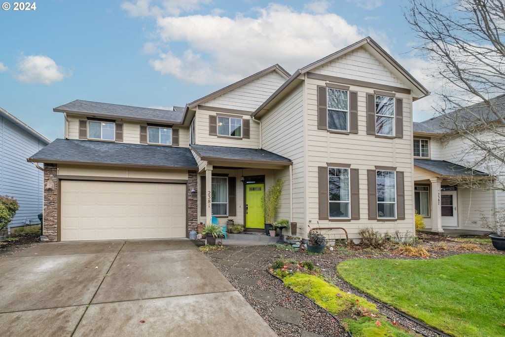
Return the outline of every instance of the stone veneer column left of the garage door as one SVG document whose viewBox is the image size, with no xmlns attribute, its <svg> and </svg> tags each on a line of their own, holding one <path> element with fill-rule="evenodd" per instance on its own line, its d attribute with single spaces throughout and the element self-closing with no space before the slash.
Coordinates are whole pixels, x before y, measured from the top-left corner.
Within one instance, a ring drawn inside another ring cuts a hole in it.
<svg viewBox="0 0 505 337">
<path fill-rule="evenodd" d="M 58 166 L 44 164 L 43 233 L 45 241 L 58 241 Z"/>
</svg>

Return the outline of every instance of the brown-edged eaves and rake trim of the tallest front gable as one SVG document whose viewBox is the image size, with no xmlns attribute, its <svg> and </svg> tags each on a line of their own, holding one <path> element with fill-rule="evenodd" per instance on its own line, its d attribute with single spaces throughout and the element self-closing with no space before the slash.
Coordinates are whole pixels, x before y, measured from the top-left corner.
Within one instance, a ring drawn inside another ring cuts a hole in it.
<svg viewBox="0 0 505 337">
<path fill-rule="evenodd" d="M 369 53 L 371 53 L 373 56 L 375 56 L 377 59 L 382 59 L 384 60 L 385 63 L 389 64 L 389 68 L 393 69 L 395 73 L 398 75 L 402 76 L 403 78 L 406 79 L 411 85 L 412 88 L 412 94 L 414 97 L 414 100 L 422 98 L 424 96 L 429 95 L 429 91 L 421 84 L 419 83 L 405 68 L 403 68 L 398 62 L 396 62 L 388 53 L 386 53 L 378 44 L 375 42 L 371 37 L 366 37 L 354 44 L 351 44 L 344 49 L 339 50 L 338 52 L 335 52 L 331 55 L 328 55 L 325 58 L 322 58 L 321 60 L 318 60 L 316 62 L 313 62 L 309 64 L 308 66 L 305 66 L 301 69 L 298 69 L 291 75 L 291 77 L 284 83 L 282 84 L 271 96 L 266 100 L 261 106 L 256 109 L 256 111 L 252 114 L 252 116 L 256 116 L 259 114 L 262 110 L 266 109 L 267 106 L 272 101 L 277 101 L 278 100 L 278 95 L 287 94 L 294 86 L 296 86 L 301 80 L 298 79 L 300 75 L 303 75 L 305 73 L 310 72 L 311 70 L 327 63 L 330 62 L 334 59 L 337 59 L 341 57 L 344 54 L 350 53 L 358 48 L 364 47 Z"/>
</svg>

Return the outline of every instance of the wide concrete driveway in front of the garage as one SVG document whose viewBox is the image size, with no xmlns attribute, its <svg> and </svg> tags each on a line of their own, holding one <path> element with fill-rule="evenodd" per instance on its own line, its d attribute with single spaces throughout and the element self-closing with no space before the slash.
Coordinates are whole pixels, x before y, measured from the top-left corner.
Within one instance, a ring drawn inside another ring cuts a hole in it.
<svg viewBox="0 0 505 337">
<path fill-rule="evenodd" d="M 44 243 L 0 271 L 2 336 L 276 336 L 188 239 Z"/>
</svg>

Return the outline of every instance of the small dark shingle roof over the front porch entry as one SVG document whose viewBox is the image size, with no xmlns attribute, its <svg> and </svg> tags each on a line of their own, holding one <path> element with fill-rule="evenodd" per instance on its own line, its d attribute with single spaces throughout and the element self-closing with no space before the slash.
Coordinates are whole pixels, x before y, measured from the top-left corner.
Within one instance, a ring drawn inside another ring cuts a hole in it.
<svg viewBox="0 0 505 337">
<path fill-rule="evenodd" d="M 291 163 L 291 160 L 273 152 L 261 149 L 229 148 L 210 145 L 192 145 L 191 148 L 204 160 L 207 158 L 225 160 L 272 161 Z"/>
</svg>

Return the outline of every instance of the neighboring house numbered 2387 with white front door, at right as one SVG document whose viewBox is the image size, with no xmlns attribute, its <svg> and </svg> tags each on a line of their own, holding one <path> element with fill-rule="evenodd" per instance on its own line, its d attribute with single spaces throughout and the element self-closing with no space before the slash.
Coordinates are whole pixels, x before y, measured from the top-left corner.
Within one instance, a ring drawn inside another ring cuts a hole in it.
<svg viewBox="0 0 505 337">
<path fill-rule="evenodd" d="M 505 95 L 491 103 L 505 112 L 502 108 Z M 503 147 L 505 139 L 479 128 L 477 119 L 481 118 L 491 123 L 496 120 L 483 104 L 475 104 L 414 123 L 415 208 L 424 216 L 427 230 L 488 231 L 480 226 L 481 213 L 492 218 L 492 211 L 505 205 L 505 191 L 492 188 L 505 182 L 503 164 L 492 159 L 482 160 L 485 154 L 454 132 L 457 123 L 479 139 L 489 138 L 494 146 Z M 475 182 L 479 182 L 478 186 Z"/>
</svg>

